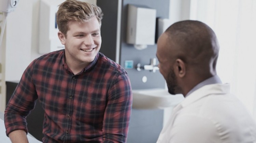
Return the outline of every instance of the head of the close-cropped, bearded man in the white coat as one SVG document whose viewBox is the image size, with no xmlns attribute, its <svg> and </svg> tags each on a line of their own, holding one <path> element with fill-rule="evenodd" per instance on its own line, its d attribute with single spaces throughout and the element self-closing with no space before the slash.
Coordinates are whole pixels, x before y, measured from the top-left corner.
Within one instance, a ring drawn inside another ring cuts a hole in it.
<svg viewBox="0 0 256 143">
<path fill-rule="evenodd" d="M 156 52 L 169 93 L 186 95 L 216 75 L 218 51 L 216 35 L 206 24 L 193 20 L 172 24 L 158 38 Z"/>
</svg>

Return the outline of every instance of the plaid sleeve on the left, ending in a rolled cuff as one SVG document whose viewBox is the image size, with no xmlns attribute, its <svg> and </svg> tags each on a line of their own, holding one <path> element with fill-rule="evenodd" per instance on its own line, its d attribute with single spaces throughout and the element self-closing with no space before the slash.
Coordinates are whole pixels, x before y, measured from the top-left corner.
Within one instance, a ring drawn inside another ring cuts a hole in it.
<svg viewBox="0 0 256 143">
<path fill-rule="evenodd" d="M 24 71 L 20 82 L 9 100 L 4 114 L 6 135 L 14 130 L 28 133 L 26 117 L 34 108 L 37 94 L 32 79 L 33 62 Z"/>
</svg>

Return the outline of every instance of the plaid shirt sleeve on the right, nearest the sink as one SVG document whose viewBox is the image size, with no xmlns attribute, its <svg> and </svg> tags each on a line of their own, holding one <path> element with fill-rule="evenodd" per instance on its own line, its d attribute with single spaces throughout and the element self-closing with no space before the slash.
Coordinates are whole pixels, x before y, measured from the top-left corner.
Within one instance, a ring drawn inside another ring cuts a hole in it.
<svg viewBox="0 0 256 143">
<path fill-rule="evenodd" d="M 103 119 L 103 143 L 125 143 L 132 108 L 131 84 L 127 73 L 121 73 L 108 91 Z"/>
</svg>

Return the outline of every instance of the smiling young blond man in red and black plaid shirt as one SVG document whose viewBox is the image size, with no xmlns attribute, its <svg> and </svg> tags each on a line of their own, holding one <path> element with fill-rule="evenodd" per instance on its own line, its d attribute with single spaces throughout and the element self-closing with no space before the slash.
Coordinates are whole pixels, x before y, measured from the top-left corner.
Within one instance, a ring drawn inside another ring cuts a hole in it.
<svg viewBox="0 0 256 143">
<path fill-rule="evenodd" d="M 22 75 L 5 110 L 12 142 L 27 142 L 26 117 L 37 99 L 45 111 L 45 143 L 126 142 L 131 85 L 126 71 L 99 53 L 102 16 L 100 7 L 86 2 L 59 5 L 58 37 L 65 50 L 33 60 Z"/>
</svg>

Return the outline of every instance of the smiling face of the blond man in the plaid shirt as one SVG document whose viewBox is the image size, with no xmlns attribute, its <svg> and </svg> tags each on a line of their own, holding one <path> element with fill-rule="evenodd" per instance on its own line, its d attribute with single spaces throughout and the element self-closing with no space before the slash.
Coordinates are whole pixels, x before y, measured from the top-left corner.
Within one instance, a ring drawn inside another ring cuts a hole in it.
<svg viewBox="0 0 256 143">
<path fill-rule="evenodd" d="M 87 22 L 68 22 L 69 30 L 61 41 L 65 44 L 66 60 L 70 63 L 89 64 L 100 50 L 100 25 L 96 17 Z"/>
</svg>

